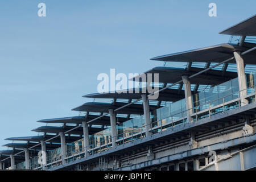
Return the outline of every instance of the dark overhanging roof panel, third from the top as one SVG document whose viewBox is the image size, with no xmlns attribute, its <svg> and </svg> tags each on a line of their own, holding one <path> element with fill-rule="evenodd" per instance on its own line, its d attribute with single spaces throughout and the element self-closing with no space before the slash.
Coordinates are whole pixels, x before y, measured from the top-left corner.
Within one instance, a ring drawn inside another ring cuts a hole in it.
<svg viewBox="0 0 256 182">
<path fill-rule="evenodd" d="M 170 68 L 170 67 L 155 67 L 145 73 L 146 73 L 146 76 L 147 76 L 147 73 L 152 73 L 152 74 L 159 73 L 159 82 L 175 83 L 177 81 L 180 81 L 181 76 L 183 75 L 191 76 L 203 70 L 204 68 L 194 68 L 194 67 L 189 68 L 189 70 L 187 68 L 184 69 L 184 68 Z M 138 77 L 134 77 L 134 79 Z M 217 85 L 217 84 L 221 84 L 222 82 L 229 81 L 230 79 L 233 79 L 236 77 L 237 77 L 236 72 L 222 72 L 222 71 L 211 69 L 207 72 L 201 73 L 200 75 L 191 78 L 190 81 L 191 81 L 191 84 Z"/>
</svg>

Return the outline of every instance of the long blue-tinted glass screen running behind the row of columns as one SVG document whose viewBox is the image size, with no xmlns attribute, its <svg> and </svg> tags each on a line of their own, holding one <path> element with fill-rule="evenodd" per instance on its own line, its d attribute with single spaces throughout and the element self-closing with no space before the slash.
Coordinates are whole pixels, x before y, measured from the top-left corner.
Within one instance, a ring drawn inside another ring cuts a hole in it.
<svg viewBox="0 0 256 182">
<path fill-rule="evenodd" d="M 256 76 L 254 76 L 254 74 L 255 73 L 250 73 L 246 75 L 246 90 L 247 95 L 249 96 L 247 100 L 249 100 L 249 103 L 255 103 L 254 83 L 256 81 Z M 214 114 L 225 113 L 225 111 L 240 108 L 240 93 L 242 91 L 239 91 L 238 78 L 234 78 L 223 84 L 213 86 L 204 92 L 194 94 L 192 96 L 193 107 L 189 109 L 191 111 L 192 121 L 198 122 L 201 119 L 211 117 Z M 184 99 L 152 111 L 150 134 L 154 135 L 168 129 L 174 129 L 174 127 L 180 125 L 186 125 L 188 123 L 187 111 Z M 115 139 L 117 146 L 143 138 L 145 137 L 146 131 L 144 116 L 141 115 L 141 117 L 120 123 L 117 125 L 116 129 L 117 136 L 115 136 Z M 76 142 L 68 143 L 67 154 L 64 156 L 65 163 L 84 158 L 85 149 L 89 155 L 93 155 L 112 148 L 111 128 L 91 135 L 89 140 L 90 145 L 86 147 L 84 147 L 83 138 Z M 61 151 L 60 148 L 57 150 L 59 152 L 56 156 L 48 154 L 48 158 L 51 158 L 51 164 L 48 165 L 48 168 L 61 165 Z M 53 155 L 55 155 L 55 153 Z M 36 166 L 36 162 L 34 163 Z M 22 164 L 20 164 L 20 166 L 22 166 Z"/>
</svg>

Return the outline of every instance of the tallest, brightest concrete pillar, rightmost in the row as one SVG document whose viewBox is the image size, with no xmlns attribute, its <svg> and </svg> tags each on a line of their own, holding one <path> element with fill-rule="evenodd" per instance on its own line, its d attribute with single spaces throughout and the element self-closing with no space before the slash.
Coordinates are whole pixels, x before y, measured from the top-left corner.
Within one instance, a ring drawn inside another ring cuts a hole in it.
<svg viewBox="0 0 256 182">
<path fill-rule="evenodd" d="M 245 96 L 247 95 L 247 90 L 246 90 L 247 86 L 246 86 L 246 78 L 245 78 L 245 63 L 243 62 L 243 58 L 241 56 L 240 51 L 235 51 L 234 57 L 237 62 L 237 75 L 238 75 L 239 90 L 242 90 L 240 92 L 241 106 L 245 106 L 248 104 L 248 101 L 245 98 Z"/>
</svg>

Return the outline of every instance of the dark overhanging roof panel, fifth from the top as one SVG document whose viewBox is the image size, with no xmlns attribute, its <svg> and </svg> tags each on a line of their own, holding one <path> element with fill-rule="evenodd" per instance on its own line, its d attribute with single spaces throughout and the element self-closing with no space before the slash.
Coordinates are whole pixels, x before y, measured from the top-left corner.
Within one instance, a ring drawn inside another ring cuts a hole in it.
<svg viewBox="0 0 256 182">
<path fill-rule="evenodd" d="M 72 110 L 75 111 L 92 111 L 100 113 L 108 113 L 109 109 L 118 109 L 121 106 L 126 105 L 126 103 L 115 102 L 115 104 L 107 104 L 102 102 L 86 102 L 85 104 L 76 107 Z M 155 110 L 155 106 L 150 106 L 150 110 Z M 128 107 L 116 111 L 117 114 L 143 114 L 143 105 L 132 104 Z"/>
</svg>

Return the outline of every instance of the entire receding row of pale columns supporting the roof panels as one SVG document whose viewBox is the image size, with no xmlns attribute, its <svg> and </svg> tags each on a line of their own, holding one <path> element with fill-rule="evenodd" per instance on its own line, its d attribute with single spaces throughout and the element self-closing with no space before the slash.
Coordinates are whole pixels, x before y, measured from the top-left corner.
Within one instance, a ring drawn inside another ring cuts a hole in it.
<svg viewBox="0 0 256 182">
<path fill-rule="evenodd" d="M 246 77 L 245 77 L 245 64 L 241 56 L 240 51 L 234 52 L 234 57 L 237 63 L 237 74 L 238 74 L 238 84 L 239 89 L 242 90 L 240 92 L 240 99 L 241 99 L 241 106 L 248 104 L 245 96 L 247 94 L 246 91 Z M 183 84 L 184 84 L 184 92 L 185 92 L 185 104 L 187 109 L 187 119 L 188 122 L 192 122 L 192 118 L 190 117 L 193 113 L 193 103 L 192 103 L 192 92 L 191 92 L 191 82 L 187 75 L 183 75 L 182 77 Z M 144 111 L 144 121 L 145 121 L 145 130 L 146 130 L 146 137 L 150 135 L 150 106 L 148 97 L 146 94 L 142 94 L 142 101 L 143 101 L 143 111 Z M 116 127 L 116 114 L 114 113 L 113 109 L 109 109 L 110 115 L 110 125 L 112 128 L 112 147 L 116 147 L 116 140 L 117 140 L 117 127 Z M 86 115 L 88 117 L 88 115 Z M 89 131 L 88 131 L 88 124 L 86 122 L 82 122 L 83 127 L 83 134 L 84 134 L 84 147 L 85 147 L 85 156 L 88 156 L 88 146 L 89 146 Z M 61 155 L 62 161 L 65 163 L 65 156 L 66 156 L 66 143 L 65 143 L 65 134 L 60 132 L 60 141 L 61 141 Z M 46 154 L 46 143 L 42 140 L 40 141 L 42 145 L 42 151 Z M 195 141 L 195 134 L 191 133 L 191 142 L 189 142 L 189 146 L 196 147 L 197 143 Z M 26 169 L 29 169 L 29 154 L 27 148 L 24 148 L 25 151 L 25 160 L 26 160 Z M 11 158 L 11 168 L 14 169 L 14 156 L 10 155 Z M 1 165 L 2 167 L 2 165 Z M 46 169 L 46 165 L 43 164 L 43 170 Z"/>
</svg>

